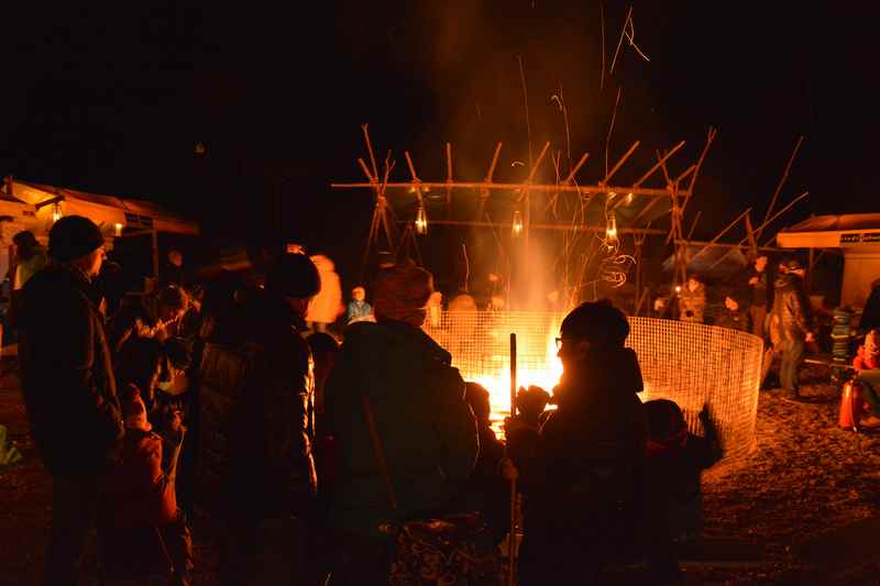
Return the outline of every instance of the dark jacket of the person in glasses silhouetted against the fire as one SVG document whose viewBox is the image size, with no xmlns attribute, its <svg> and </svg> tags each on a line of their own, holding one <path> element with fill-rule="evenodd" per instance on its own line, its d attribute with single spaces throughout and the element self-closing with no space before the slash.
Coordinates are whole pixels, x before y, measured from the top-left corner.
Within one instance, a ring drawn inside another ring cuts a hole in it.
<svg viewBox="0 0 880 586">
<path fill-rule="evenodd" d="M 530 528 L 637 498 L 647 441 L 641 390 L 631 349 L 595 349 L 554 390 L 558 409 L 537 439 L 510 438 Z"/>
</svg>

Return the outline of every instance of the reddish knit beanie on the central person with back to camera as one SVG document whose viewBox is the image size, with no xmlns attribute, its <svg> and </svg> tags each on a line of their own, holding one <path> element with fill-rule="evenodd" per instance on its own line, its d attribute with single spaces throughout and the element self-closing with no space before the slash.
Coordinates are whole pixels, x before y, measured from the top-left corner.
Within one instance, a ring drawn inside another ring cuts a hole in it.
<svg viewBox="0 0 880 586">
<path fill-rule="evenodd" d="M 421 328 L 432 292 L 433 276 L 414 263 L 384 268 L 373 284 L 373 311 L 378 321 L 402 321 Z"/>
</svg>

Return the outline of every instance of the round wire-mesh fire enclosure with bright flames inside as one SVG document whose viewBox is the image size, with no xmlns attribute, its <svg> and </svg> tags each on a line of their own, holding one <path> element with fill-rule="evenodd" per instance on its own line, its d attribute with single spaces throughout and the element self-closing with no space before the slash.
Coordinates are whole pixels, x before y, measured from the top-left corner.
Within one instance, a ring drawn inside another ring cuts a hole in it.
<svg viewBox="0 0 880 586">
<path fill-rule="evenodd" d="M 562 373 L 554 340 L 562 318 L 548 311 L 443 311 L 429 317 L 425 331 L 452 353 L 465 380 L 488 389 L 499 422 L 509 413 L 509 334 L 517 334 L 517 383 L 549 391 Z M 755 446 L 761 341 L 697 323 L 629 318 L 629 324 L 627 345 L 638 354 L 645 379 L 642 401 L 674 400 L 691 431 L 701 434 L 697 413 L 708 403 L 725 462 L 748 455 Z"/>
</svg>

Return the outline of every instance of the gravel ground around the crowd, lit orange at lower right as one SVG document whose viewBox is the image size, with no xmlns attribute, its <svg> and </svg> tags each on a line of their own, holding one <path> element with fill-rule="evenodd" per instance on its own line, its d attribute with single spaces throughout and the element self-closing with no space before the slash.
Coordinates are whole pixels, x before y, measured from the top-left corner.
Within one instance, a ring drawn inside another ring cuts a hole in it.
<svg viewBox="0 0 880 586">
<path fill-rule="evenodd" d="M 794 403 L 762 392 L 757 446 L 744 462 L 705 473 L 705 534 L 736 538 L 761 548 L 766 563 L 749 567 L 688 565 L 688 584 L 880 584 L 876 555 L 846 564 L 799 554 L 811 540 L 832 535 L 857 551 L 849 529 L 880 515 L 880 434 L 837 428 L 837 389 L 821 368 L 804 373 L 811 402 Z M 0 423 L 24 460 L 0 468 L 0 584 L 36 584 L 47 535 L 50 479 L 37 462 L 14 378 L 0 379 Z M 208 519 L 197 519 L 196 584 L 216 583 L 217 555 Z M 831 533 L 829 533 L 831 532 Z M 94 549 L 84 564 L 95 574 Z"/>
</svg>

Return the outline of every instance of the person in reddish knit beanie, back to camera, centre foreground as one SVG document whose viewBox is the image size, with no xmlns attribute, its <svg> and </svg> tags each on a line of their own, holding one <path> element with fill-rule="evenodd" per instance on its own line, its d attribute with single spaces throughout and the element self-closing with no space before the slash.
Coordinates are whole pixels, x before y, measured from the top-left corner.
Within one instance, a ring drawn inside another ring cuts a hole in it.
<svg viewBox="0 0 880 586">
<path fill-rule="evenodd" d="M 411 262 L 375 277 L 376 323 L 353 323 L 324 391 L 336 438 L 333 583 L 388 581 L 381 523 L 453 512 L 479 451 L 464 380 L 421 325 L 433 277 Z M 430 512 L 429 512 L 430 511 Z"/>
</svg>

